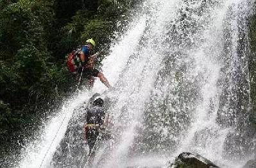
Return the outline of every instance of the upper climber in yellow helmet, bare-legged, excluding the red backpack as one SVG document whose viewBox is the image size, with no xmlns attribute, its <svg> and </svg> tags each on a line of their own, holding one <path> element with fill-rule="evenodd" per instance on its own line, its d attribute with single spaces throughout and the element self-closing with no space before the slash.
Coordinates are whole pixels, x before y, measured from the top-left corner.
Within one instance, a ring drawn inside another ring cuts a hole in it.
<svg viewBox="0 0 256 168">
<path fill-rule="evenodd" d="M 98 69 L 94 68 L 94 60 L 96 60 L 99 55 L 99 53 L 92 55 L 92 49 L 96 46 L 96 43 L 92 38 L 86 40 L 86 42 L 87 44 L 81 47 L 81 51 L 79 53 L 81 59 L 81 69 L 79 72 L 81 73 L 83 71 L 83 75 L 89 78 L 91 86 L 94 84 L 94 77 L 98 77 L 104 85 L 110 88 L 111 86 L 107 78 L 105 78 L 102 72 L 99 72 Z"/>
</svg>

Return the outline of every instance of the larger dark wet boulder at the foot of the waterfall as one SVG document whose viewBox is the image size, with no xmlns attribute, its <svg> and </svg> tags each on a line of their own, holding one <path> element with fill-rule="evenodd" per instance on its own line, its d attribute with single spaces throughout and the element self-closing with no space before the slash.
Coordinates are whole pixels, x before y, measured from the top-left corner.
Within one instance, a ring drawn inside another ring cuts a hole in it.
<svg viewBox="0 0 256 168">
<path fill-rule="evenodd" d="M 175 159 L 175 163 L 171 164 L 169 168 L 219 168 L 217 165 L 210 162 L 203 156 L 196 153 L 181 153 Z"/>
</svg>

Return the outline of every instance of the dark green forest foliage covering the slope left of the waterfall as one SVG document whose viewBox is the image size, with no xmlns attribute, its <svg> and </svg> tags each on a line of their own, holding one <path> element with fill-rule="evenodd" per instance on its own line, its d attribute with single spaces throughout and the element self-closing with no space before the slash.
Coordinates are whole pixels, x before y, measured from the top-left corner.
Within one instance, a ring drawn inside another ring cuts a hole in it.
<svg viewBox="0 0 256 168">
<path fill-rule="evenodd" d="M 134 2 L 0 0 L 1 150 L 74 90 L 65 55 L 87 38 L 96 51 L 110 44 L 117 19 Z"/>
</svg>

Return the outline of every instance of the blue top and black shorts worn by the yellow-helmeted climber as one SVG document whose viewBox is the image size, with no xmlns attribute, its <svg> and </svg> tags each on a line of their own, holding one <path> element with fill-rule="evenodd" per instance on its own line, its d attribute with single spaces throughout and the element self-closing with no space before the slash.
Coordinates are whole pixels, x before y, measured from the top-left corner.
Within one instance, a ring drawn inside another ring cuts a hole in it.
<svg viewBox="0 0 256 168">
<path fill-rule="evenodd" d="M 85 54 L 85 62 L 83 63 L 83 65 L 85 65 L 86 67 L 87 63 L 89 63 L 89 56 L 90 56 L 89 47 L 83 46 L 81 47 L 81 51 Z M 98 69 L 87 67 L 83 69 L 83 74 L 87 78 L 90 78 L 90 76 L 98 77 L 99 71 Z"/>
</svg>

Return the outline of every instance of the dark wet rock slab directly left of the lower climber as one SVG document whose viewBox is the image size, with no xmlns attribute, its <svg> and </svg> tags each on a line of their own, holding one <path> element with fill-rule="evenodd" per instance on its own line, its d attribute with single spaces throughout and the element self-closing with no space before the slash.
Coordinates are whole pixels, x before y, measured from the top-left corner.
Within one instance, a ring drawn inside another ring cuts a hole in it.
<svg viewBox="0 0 256 168">
<path fill-rule="evenodd" d="M 69 121 L 64 138 L 56 147 L 51 160 L 52 167 L 79 167 L 83 156 L 87 155 L 83 126 L 86 122 L 87 109 L 85 106 L 74 110 Z"/>
</svg>

